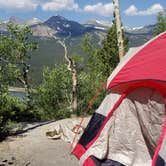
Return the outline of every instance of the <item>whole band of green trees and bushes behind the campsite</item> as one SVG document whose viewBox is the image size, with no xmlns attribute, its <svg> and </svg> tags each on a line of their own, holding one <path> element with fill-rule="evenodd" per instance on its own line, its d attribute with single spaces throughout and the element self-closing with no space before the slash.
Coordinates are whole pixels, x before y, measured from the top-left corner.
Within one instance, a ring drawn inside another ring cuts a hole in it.
<svg viewBox="0 0 166 166">
<path fill-rule="evenodd" d="M 160 13 L 155 35 L 165 30 L 166 17 Z M 9 25 L 8 34 L 0 35 L 0 137 L 10 130 L 13 123 L 84 115 L 96 90 L 119 62 L 116 26 L 113 23 L 99 48 L 93 44 L 89 34 L 85 35 L 80 47 L 86 58 L 68 55 L 66 41 L 59 40 L 66 63 L 53 68 L 45 67 L 42 83 L 32 86 L 29 59 L 38 45 L 31 36 L 29 27 L 16 25 Z M 127 51 L 128 39 L 124 41 Z M 9 86 L 16 85 L 25 89 L 23 101 L 10 95 Z M 89 113 L 99 106 L 104 94 L 103 90 Z"/>
</svg>

